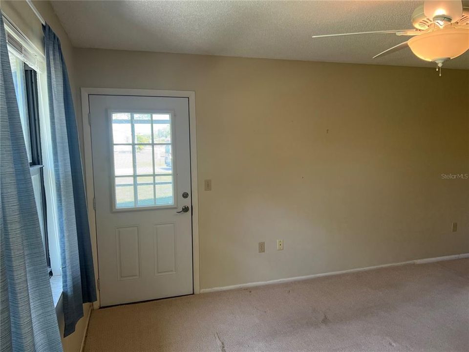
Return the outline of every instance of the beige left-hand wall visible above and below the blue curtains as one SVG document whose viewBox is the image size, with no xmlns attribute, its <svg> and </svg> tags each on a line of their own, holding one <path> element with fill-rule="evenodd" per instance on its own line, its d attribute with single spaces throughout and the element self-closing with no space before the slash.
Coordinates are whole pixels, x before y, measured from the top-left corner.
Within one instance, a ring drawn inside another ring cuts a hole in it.
<svg viewBox="0 0 469 352">
<path fill-rule="evenodd" d="M 72 88 L 73 99 L 75 102 L 75 108 L 80 100 L 77 100 L 77 89 L 75 84 L 75 65 L 73 62 L 73 47 L 68 39 L 67 34 L 64 31 L 59 19 L 55 15 L 49 1 L 34 1 L 34 5 L 43 16 L 44 20 L 51 26 L 54 32 L 60 39 L 62 51 L 64 53 L 65 63 L 67 65 L 67 71 L 70 79 L 70 86 Z M 26 1 L 5 1 L 0 2 L 1 11 L 16 24 L 16 26 L 23 32 L 26 37 L 41 51 L 44 52 L 44 36 L 42 30 L 42 24 L 31 10 Z M 85 317 L 87 317 L 91 304 L 83 305 Z M 59 303 L 56 308 L 59 320 L 59 328 L 61 334 L 64 333 L 63 323 L 63 309 Z M 77 323 L 76 330 L 71 335 L 62 339 L 62 345 L 64 352 L 79 352 L 83 335 L 86 328 L 86 318 L 80 319 Z"/>
</svg>

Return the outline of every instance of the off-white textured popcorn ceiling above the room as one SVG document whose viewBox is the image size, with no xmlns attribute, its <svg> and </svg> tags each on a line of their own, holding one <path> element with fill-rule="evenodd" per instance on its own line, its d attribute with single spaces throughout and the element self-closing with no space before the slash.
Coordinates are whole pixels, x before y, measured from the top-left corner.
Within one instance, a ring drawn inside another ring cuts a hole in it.
<svg viewBox="0 0 469 352">
<path fill-rule="evenodd" d="M 412 28 L 422 1 L 51 1 L 78 47 L 378 65 L 423 66 L 409 37 L 311 35 Z M 469 69 L 469 51 L 445 64 Z"/>
</svg>

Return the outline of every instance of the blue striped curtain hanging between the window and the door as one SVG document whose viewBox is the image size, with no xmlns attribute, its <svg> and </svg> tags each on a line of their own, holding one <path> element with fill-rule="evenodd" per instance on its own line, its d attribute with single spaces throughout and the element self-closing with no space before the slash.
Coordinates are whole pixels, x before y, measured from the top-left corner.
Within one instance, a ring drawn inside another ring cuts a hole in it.
<svg viewBox="0 0 469 352">
<path fill-rule="evenodd" d="M 52 154 L 62 264 L 64 336 L 75 331 L 83 303 L 96 301 L 93 258 L 77 123 L 59 38 L 43 26 Z"/>
</svg>

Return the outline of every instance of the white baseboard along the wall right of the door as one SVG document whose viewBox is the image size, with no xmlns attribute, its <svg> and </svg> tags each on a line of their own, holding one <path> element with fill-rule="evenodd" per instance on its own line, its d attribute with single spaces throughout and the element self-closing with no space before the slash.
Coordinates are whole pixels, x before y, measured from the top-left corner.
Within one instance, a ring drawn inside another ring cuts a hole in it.
<svg viewBox="0 0 469 352">
<path fill-rule="evenodd" d="M 391 264 L 367 266 L 367 267 L 356 268 L 356 269 L 333 271 L 333 272 L 306 275 L 306 276 L 297 276 L 297 277 L 286 278 L 286 279 L 260 281 L 260 282 L 254 282 L 254 283 L 232 285 L 232 286 L 201 288 L 200 293 L 209 293 L 209 292 L 216 292 L 216 291 L 226 291 L 226 290 L 231 290 L 231 289 L 236 289 L 236 288 L 246 288 L 246 287 L 254 287 L 254 286 L 281 284 L 281 283 L 292 282 L 292 281 L 301 281 L 301 280 L 314 279 L 314 278 L 322 277 L 322 276 L 348 274 L 348 273 L 353 273 L 353 272 L 367 271 L 367 270 L 379 269 L 379 268 L 390 267 L 390 266 L 400 266 L 400 265 L 408 265 L 408 264 L 426 264 L 426 263 L 442 262 L 442 261 L 461 259 L 461 258 L 469 258 L 469 253 L 456 254 L 456 255 L 450 255 L 450 256 L 445 256 L 445 257 L 437 257 L 437 258 L 416 259 L 416 260 L 411 260 L 411 261 L 401 262 L 401 263 L 391 263 Z"/>
</svg>

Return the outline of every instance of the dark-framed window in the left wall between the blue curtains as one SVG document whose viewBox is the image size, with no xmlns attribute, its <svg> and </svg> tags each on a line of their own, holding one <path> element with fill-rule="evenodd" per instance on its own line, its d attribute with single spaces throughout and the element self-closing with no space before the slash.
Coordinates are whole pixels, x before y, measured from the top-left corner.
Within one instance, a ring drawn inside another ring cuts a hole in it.
<svg viewBox="0 0 469 352">
<path fill-rule="evenodd" d="M 10 31 L 7 31 L 7 43 L 34 198 L 43 238 L 44 256 L 50 277 L 52 276 L 52 269 L 49 253 L 46 189 L 44 187 L 43 154 L 41 148 L 38 73 L 36 69 L 31 67 L 35 66 L 36 68 L 38 65 L 35 56 L 23 47 L 19 39 L 15 38 Z"/>
</svg>

